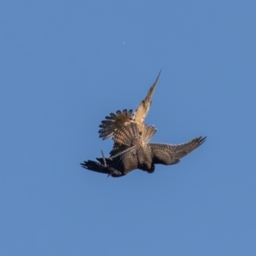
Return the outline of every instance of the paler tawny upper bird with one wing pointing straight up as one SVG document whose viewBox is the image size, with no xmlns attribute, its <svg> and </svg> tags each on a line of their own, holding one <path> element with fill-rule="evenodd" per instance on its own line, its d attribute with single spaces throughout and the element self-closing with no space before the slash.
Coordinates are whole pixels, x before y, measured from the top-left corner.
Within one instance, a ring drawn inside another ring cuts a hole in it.
<svg viewBox="0 0 256 256">
<path fill-rule="evenodd" d="M 148 114 L 148 110 L 152 102 L 152 96 L 154 94 L 158 79 L 160 78 L 160 73 L 155 79 L 154 84 L 148 90 L 148 94 L 145 99 L 138 105 L 135 113 L 132 114 L 131 109 L 129 111 L 127 111 L 127 109 L 124 109 L 123 113 L 118 110 L 116 113 L 110 113 L 109 116 L 105 117 L 105 120 L 102 120 L 99 134 L 103 140 L 107 139 L 108 137 L 114 136 L 115 131 L 118 131 L 121 127 L 129 125 L 130 123 L 136 123 L 138 131 L 140 133 L 143 133 L 143 122 L 146 118 L 146 115 Z"/>
</svg>

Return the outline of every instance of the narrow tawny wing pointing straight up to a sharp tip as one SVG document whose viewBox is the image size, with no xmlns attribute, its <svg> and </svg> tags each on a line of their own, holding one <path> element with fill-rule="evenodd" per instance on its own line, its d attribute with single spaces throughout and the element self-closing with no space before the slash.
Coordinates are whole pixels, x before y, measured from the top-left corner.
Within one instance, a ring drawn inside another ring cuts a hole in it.
<svg viewBox="0 0 256 256">
<path fill-rule="evenodd" d="M 160 71 L 160 73 L 161 73 L 161 71 Z M 145 99 L 142 102 L 139 103 L 137 110 L 133 114 L 133 119 L 137 123 L 138 129 L 141 132 L 143 132 L 143 122 L 144 122 L 146 115 L 148 114 L 148 110 L 151 106 L 152 96 L 154 94 L 154 90 L 157 85 L 158 79 L 160 78 L 160 73 L 158 74 L 157 78 L 155 79 L 154 84 L 148 90 L 148 95 L 145 97 Z"/>
</svg>

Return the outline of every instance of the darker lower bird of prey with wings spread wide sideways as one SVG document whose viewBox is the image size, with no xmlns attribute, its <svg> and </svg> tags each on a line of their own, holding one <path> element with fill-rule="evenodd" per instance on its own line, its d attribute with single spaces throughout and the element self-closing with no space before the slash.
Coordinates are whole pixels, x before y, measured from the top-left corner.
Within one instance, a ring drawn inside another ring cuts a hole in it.
<svg viewBox="0 0 256 256">
<path fill-rule="evenodd" d="M 129 172 L 140 169 L 148 173 L 154 172 L 154 165 L 175 165 L 183 156 L 191 153 L 205 142 L 206 137 L 196 137 L 179 145 L 149 143 L 156 132 L 154 126 L 143 126 L 140 134 L 137 123 L 130 123 L 115 131 L 113 140 L 124 145 L 126 149 L 112 157 L 97 158 L 98 162 L 87 160 L 81 164 L 84 168 L 108 174 L 112 177 L 122 177 Z"/>
</svg>

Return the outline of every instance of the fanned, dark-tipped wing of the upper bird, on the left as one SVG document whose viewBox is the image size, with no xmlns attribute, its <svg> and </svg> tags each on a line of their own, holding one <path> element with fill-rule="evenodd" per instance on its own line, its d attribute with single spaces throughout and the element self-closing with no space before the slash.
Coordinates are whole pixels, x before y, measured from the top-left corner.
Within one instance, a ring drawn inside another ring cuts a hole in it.
<svg viewBox="0 0 256 256">
<path fill-rule="evenodd" d="M 110 116 L 106 116 L 105 120 L 103 120 L 102 124 L 100 125 L 100 137 L 105 140 L 106 138 L 111 137 L 114 131 L 118 130 L 124 125 L 129 124 L 132 120 L 131 113 L 131 109 L 129 111 L 127 111 L 127 109 L 124 109 L 123 113 L 118 110 L 116 114 L 110 113 Z"/>
</svg>

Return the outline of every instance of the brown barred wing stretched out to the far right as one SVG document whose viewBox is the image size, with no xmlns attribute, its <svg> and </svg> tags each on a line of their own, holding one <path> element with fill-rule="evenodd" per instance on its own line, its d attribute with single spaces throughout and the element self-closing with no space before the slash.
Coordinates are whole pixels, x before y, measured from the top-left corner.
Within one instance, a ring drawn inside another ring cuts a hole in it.
<svg viewBox="0 0 256 256">
<path fill-rule="evenodd" d="M 153 154 L 153 164 L 174 165 L 177 164 L 183 156 L 189 154 L 195 148 L 201 146 L 207 137 L 196 137 L 189 143 L 179 145 L 149 143 Z"/>
</svg>

